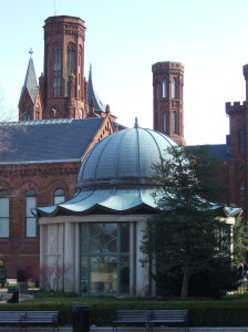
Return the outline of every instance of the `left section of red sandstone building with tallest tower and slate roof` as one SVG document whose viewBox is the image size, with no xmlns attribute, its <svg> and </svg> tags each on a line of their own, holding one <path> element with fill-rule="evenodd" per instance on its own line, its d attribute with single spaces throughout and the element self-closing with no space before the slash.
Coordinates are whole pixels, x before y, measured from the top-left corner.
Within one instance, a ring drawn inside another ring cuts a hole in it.
<svg viewBox="0 0 248 332">
<path fill-rule="evenodd" d="M 39 226 L 30 208 L 71 197 L 82 159 L 122 128 L 84 77 L 84 21 L 52 17 L 44 24 L 44 73 L 37 83 L 32 52 L 19 122 L 0 125 L 0 259 L 8 278 L 39 264 Z"/>
</svg>

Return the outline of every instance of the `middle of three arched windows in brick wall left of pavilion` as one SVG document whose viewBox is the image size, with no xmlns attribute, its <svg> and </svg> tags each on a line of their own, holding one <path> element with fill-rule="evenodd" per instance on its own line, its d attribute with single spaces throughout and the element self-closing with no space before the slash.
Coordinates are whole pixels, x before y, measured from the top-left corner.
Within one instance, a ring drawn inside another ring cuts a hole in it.
<svg viewBox="0 0 248 332">
<path fill-rule="evenodd" d="M 25 237 L 37 237 L 37 218 L 32 215 L 31 209 L 37 206 L 37 193 L 29 190 L 25 194 Z"/>
</svg>

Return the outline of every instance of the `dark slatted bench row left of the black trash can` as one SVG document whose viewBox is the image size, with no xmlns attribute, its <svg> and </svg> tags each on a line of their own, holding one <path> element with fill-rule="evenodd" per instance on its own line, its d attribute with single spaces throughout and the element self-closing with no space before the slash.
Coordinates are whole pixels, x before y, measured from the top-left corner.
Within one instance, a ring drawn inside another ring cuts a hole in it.
<svg viewBox="0 0 248 332">
<path fill-rule="evenodd" d="M 27 331 L 28 325 L 48 324 L 59 331 L 59 311 L 0 311 L 0 324 L 14 324 L 20 331 Z"/>
</svg>

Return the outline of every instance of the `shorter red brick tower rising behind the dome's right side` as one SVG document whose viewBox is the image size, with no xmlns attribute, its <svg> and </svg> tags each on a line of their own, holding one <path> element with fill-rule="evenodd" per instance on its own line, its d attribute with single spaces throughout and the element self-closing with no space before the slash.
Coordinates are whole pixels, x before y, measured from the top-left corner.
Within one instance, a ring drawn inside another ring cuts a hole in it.
<svg viewBox="0 0 248 332">
<path fill-rule="evenodd" d="M 153 128 L 185 146 L 184 138 L 184 65 L 157 62 L 153 72 Z"/>
</svg>

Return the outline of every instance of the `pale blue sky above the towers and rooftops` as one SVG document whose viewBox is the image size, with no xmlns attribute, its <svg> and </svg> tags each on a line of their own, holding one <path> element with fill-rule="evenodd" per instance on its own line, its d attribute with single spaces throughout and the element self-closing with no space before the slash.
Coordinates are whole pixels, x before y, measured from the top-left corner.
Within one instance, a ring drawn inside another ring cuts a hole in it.
<svg viewBox="0 0 248 332">
<path fill-rule="evenodd" d="M 152 64 L 185 65 L 184 122 L 187 144 L 225 143 L 225 103 L 246 97 L 247 0 L 56 0 L 56 14 L 85 21 L 85 75 L 90 63 L 102 100 L 118 122 L 153 127 Z M 54 0 L 1 3 L 0 89 L 8 117 L 18 101 L 33 49 L 43 71 L 43 24 Z"/>
</svg>

